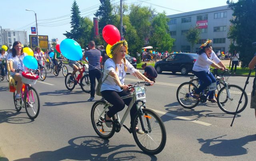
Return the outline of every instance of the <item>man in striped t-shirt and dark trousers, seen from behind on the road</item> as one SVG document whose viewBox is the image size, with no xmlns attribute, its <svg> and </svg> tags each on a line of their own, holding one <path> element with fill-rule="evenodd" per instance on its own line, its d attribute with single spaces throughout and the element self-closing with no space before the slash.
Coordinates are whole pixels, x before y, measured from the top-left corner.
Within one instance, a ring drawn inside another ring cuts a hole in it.
<svg viewBox="0 0 256 161">
<path fill-rule="evenodd" d="M 95 85 L 97 81 L 99 81 L 102 76 L 102 72 L 100 71 L 100 51 L 95 49 L 95 42 L 89 41 L 88 43 L 89 50 L 84 53 L 83 60 L 89 64 L 89 78 L 91 83 L 91 96 L 88 101 L 94 101 L 95 95 Z M 88 58 L 88 61 L 86 60 Z"/>
</svg>

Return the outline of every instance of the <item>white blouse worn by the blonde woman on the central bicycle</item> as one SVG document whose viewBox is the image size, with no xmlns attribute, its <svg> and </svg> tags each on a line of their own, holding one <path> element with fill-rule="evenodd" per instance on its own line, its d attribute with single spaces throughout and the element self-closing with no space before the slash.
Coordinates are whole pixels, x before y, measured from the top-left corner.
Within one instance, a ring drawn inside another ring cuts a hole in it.
<svg viewBox="0 0 256 161">
<path fill-rule="evenodd" d="M 127 60 L 125 62 L 127 67 L 127 73 L 131 74 L 137 71 L 137 69 L 135 69 Z M 116 67 L 118 67 L 118 71 L 116 71 Z M 120 82 L 124 85 L 124 77 L 126 76 L 126 72 L 124 71 L 124 62 L 122 64 L 115 64 L 112 59 L 107 59 L 104 66 L 104 76 L 102 78 L 102 81 L 104 81 L 110 71 L 115 72 L 118 75 Z M 118 86 L 116 82 L 114 82 L 114 79 L 109 74 L 106 80 L 102 83 L 100 92 L 103 90 L 114 90 L 116 92 L 122 91 L 120 86 Z"/>
</svg>

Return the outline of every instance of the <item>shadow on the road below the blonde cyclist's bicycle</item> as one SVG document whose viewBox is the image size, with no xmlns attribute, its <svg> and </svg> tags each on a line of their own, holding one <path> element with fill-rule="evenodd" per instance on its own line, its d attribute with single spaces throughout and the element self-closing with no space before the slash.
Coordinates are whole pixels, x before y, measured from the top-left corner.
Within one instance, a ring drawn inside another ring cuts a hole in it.
<svg viewBox="0 0 256 161">
<path fill-rule="evenodd" d="M 120 151 L 123 147 L 135 147 L 135 145 L 109 145 L 109 140 L 95 136 L 75 137 L 68 141 L 69 146 L 55 151 L 41 151 L 30 155 L 30 158 L 18 159 L 16 161 L 27 160 L 127 160 L 137 157 L 140 161 L 157 160 L 155 156 L 147 155 L 141 151 Z M 115 153 L 112 153 L 115 152 Z M 108 155 L 108 153 L 112 153 Z M 104 155 L 104 156 L 102 156 Z"/>
</svg>

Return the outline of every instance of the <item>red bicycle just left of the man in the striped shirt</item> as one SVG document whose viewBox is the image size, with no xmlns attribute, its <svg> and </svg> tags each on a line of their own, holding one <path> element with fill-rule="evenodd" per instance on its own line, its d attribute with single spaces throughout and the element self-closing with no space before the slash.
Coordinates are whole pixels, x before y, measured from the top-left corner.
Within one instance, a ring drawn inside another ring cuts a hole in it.
<svg viewBox="0 0 256 161">
<path fill-rule="evenodd" d="M 82 73 L 84 74 L 83 77 L 81 78 L 81 74 L 79 73 L 78 76 L 76 77 L 76 73 L 74 75 L 75 81 L 70 80 L 70 76 L 72 76 L 72 73 L 68 73 L 65 77 L 65 86 L 68 90 L 73 90 L 76 86 L 76 84 L 79 84 L 81 86 L 81 89 L 86 92 L 90 93 L 90 79 L 89 79 L 89 73 L 86 71 L 88 69 L 88 64 L 83 64 L 83 70 Z M 79 82 L 80 81 L 80 82 Z"/>
</svg>

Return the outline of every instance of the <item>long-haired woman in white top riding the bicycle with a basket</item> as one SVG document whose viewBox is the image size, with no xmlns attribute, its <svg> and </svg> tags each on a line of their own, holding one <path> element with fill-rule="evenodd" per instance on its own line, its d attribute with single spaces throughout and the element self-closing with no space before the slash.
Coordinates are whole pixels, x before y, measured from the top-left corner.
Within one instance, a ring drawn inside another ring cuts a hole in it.
<svg viewBox="0 0 256 161">
<path fill-rule="evenodd" d="M 23 84 L 21 80 L 22 76 L 20 73 L 15 72 L 15 69 L 25 69 L 23 59 L 28 54 L 23 52 L 23 47 L 21 46 L 20 41 L 15 41 L 12 46 L 12 55 L 8 59 L 8 61 L 10 61 L 10 75 L 12 76 L 12 78 L 14 78 L 15 81 L 17 81 L 17 94 L 15 96 L 15 99 L 20 99 L 20 90 Z"/>
</svg>

